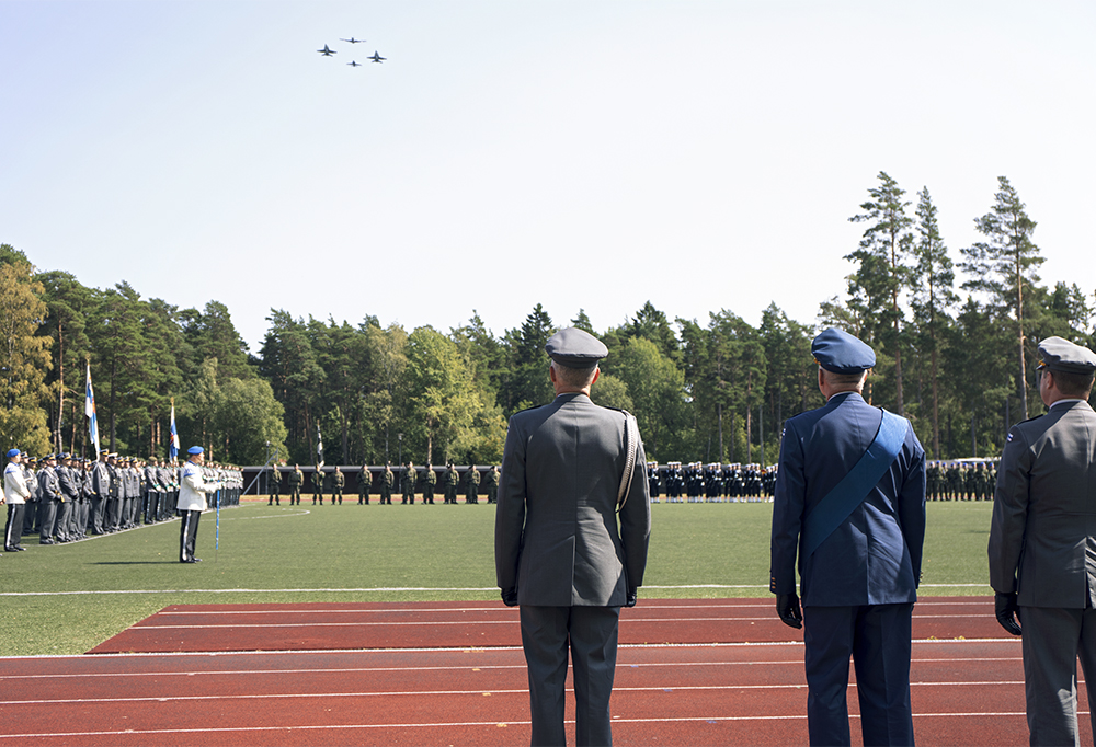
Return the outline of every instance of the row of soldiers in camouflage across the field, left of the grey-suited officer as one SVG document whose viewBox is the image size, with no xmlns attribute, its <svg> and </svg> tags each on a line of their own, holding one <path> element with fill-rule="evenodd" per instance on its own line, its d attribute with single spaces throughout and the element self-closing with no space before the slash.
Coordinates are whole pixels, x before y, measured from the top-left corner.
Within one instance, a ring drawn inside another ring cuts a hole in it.
<svg viewBox="0 0 1096 747">
<path fill-rule="evenodd" d="M 499 496 L 499 466 L 493 464 L 481 475 L 479 468 L 475 464 L 468 467 L 463 472 L 455 464 L 449 462 L 441 472 L 432 464 L 419 469 L 413 462 L 408 462 L 398 468 L 399 491 L 402 494 L 403 505 L 413 505 L 415 495 L 422 495 L 422 503 L 434 504 L 434 493 L 441 485 L 443 503 L 456 504 L 457 495 L 464 492 L 465 503 L 479 503 L 480 485 L 488 503 L 495 503 Z M 363 475 L 368 475 L 363 479 Z M 381 505 L 391 505 L 392 493 L 397 486 L 397 470 L 391 463 L 386 463 L 384 468 L 370 468 L 363 464 L 356 471 L 357 478 L 357 503 L 368 505 L 369 496 L 376 492 L 380 496 Z M 293 468 L 275 466 L 267 473 L 267 493 L 270 501 L 267 505 L 282 505 L 282 482 L 285 480 L 288 486 L 289 505 L 300 504 L 300 494 L 306 491 L 306 474 L 300 466 Z M 311 468 L 307 481 L 310 483 L 312 492 L 312 505 L 323 505 L 323 498 L 330 494 L 331 505 L 342 505 L 343 492 L 346 489 L 346 473 L 342 468 L 335 466 L 330 472 L 326 471 L 322 464 Z M 376 483 L 376 490 L 374 490 Z"/>
</svg>

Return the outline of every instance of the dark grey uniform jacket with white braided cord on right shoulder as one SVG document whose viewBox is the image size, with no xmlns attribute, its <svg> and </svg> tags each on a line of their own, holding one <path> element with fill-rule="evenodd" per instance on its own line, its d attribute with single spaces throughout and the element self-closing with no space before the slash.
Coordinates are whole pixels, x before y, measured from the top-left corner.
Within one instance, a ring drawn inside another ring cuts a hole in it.
<svg viewBox="0 0 1096 747">
<path fill-rule="evenodd" d="M 638 440 L 638 434 L 637 434 Z M 638 443 L 619 513 L 627 459 L 625 414 L 585 394 L 510 418 L 495 514 L 499 587 L 521 605 L 617 607 L 643 583 L 651 536 L 647 459 Z"/>
</svg>

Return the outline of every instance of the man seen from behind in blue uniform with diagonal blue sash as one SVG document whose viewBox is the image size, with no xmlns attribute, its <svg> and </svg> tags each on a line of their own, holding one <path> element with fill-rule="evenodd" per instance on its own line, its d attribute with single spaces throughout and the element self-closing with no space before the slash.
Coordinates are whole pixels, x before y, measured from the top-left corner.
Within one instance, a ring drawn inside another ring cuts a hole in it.
<svg viewBox="0 0 1096 747">
<path fill-rule="evenodd" d="M 780 619 L 806 628 L 810 743 L 850 742 L 852 657 L 864 744 L 912 745 L 911 621 L 925 538 L 925 451 L 907 420 L 860 397 L 876 363 L 870 347 L 829 329 L 811 353 L 826 404 L 785 424 L 769 590 Z"/>
</svg>

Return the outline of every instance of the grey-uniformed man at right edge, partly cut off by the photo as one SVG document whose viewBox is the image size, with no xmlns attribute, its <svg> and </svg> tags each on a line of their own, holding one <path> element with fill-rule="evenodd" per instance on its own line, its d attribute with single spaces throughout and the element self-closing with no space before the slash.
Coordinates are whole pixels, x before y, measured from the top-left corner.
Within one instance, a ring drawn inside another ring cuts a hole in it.
<svg viewBox="0 0 1096 747">
<path fill-rule="evenodd" d="M 997 470 L 990 585 L 1014 635 L 1023 623 L 1032 745 L 1075 745 L 1077 657 L 1096 727 L 1096 354 L 1061 337 L 1039 345 L 1046 415 L 1014 425 Z"/>
</svg>

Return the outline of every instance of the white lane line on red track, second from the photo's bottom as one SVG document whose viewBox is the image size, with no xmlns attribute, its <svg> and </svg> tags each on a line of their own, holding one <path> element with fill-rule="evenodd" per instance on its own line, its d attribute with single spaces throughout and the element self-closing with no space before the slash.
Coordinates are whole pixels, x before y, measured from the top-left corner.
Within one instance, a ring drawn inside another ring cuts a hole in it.
<svg viewBox="0 0 1096 747">
<path fill-rule="evenodd" d="M 1001 687 L 1023 686 L 1024 680 L 1002 680 L 985 682 L 910 682 L 911 687 Z M 694 692 L 707 690 L 802 690 L 807 682 L 789 682 L 787 685 L 655 685 L 649 687 L 614 687 L 614 692 Z M 849 687 L 856 687 L 849 682 Z M 148 696 L 144 698 L 44 698 L 38 700 L 0 700 L 3 705 L 47 705 L 62 703 L 169 703 L 191 702 L 199 700 L 276 700 L 279 698 L 300 700 L 304 698 L 386 698 L 395 696 L 480 696 L 491 692 L 498 696 L 526 694 L 528 688 L 476 688 L 470 690 L 370 690 L 364 692 L 261 692 L 255 694 L 214 693 L 208 696 Z M 573 692 L 572 688 L 567 688 Z"/>
</svg>

